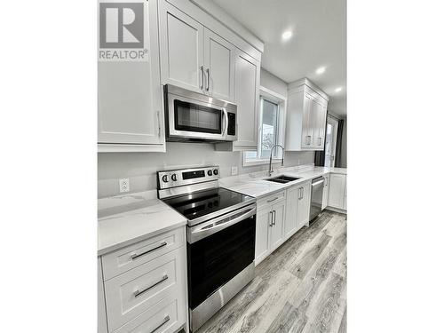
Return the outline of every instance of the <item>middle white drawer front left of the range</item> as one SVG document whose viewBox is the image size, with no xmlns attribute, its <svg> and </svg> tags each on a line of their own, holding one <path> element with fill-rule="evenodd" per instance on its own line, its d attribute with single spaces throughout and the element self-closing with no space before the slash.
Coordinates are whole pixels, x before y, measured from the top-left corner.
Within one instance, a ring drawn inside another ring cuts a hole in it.
<svg viewBox="0 0 444 333">
<path fill-rule="evenodd" d="M 106 281 L 109 331 L 120 328 L 164 297 L 182 295 L 185 258 L 182 247 Z"/>
</svg>

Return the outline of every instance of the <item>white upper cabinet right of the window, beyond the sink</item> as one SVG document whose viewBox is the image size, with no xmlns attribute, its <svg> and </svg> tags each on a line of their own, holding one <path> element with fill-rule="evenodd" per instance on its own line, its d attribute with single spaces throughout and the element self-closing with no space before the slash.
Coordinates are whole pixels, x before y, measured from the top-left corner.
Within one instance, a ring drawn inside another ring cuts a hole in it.
<svg viewBox="0 0 444 333">
<path fill-rule="evenodd" d="M 329 97 L 307 79 L 289 84 L 285 150 L 322 150 Z"/>
</svg>

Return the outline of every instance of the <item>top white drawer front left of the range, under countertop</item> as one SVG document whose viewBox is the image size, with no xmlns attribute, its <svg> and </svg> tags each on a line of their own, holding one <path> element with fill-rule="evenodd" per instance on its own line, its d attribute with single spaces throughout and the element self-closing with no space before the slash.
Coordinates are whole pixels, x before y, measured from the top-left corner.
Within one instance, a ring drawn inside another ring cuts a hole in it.
<svg viewBox="0 0 444 333">
<path fill-rule="evenodd" d="M 105 281 L 123 274 L 130 269 L 178 249 L 185 243 L 183 227 L 165 234 L 159 234 L 146 241 L 127 246 L 102 256 L 103 278 Z"/>
</svg>

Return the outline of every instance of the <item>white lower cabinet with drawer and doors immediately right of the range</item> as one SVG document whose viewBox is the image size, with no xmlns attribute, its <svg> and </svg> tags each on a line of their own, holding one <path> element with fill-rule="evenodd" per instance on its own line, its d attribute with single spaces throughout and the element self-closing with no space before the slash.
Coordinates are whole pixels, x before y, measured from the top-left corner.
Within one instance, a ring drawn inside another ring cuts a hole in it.
<svg viewBox="0 0 444 333">
<path fill-rule="evenodd" d="M 255 265 L 281 245 L 285 218 L 285 191 L 258 201 Z"/>
</svg>

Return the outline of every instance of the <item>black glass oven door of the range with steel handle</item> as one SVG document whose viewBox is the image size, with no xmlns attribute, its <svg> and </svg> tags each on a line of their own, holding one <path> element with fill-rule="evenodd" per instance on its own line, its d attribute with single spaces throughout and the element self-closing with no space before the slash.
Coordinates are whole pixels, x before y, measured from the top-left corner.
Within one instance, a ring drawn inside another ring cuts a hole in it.
<svg viewBox="0 0 444 333">
<path fill-rule="evenodd" d="M 254 261 L 256 205 L 188 227 L 188 300 L 194 309 Z"/>
</svg>

